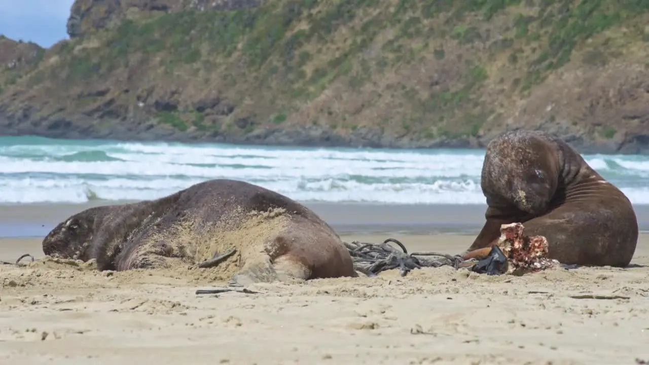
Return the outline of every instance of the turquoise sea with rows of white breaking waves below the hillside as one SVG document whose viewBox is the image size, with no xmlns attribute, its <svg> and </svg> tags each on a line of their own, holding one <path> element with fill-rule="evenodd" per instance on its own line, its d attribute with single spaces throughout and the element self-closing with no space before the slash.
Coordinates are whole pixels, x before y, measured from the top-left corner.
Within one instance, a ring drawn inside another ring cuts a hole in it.
<svg viewBox="0 0 649 365">
<path fill-rule="evenodd" d="M 649 203 L 649 156 L 585 155 Z M 162 197 L 208 179 L 249 181 L 299 201 L 484 203 L 483 150 L 344 149 L 0 137 L 0 204 Z"/>
</svg>

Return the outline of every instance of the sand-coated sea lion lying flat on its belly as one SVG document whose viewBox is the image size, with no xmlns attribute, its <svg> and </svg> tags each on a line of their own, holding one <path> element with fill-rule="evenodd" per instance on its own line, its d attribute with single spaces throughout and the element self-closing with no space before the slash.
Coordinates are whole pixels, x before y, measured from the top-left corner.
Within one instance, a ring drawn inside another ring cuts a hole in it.
<svg viewBox="0 0 649 365">
<path fill-rule="evenodd" d="M 337 233 L 312 210 L 243 181 L 217 179 L 156 200 L 84 210 L 43 239 L 45 255 L 99 270 L 168 268 L 238 253 L 231 283 L 355 276 Z M 202 266 L 211 266 L 212 262 Z"/>
</svg>

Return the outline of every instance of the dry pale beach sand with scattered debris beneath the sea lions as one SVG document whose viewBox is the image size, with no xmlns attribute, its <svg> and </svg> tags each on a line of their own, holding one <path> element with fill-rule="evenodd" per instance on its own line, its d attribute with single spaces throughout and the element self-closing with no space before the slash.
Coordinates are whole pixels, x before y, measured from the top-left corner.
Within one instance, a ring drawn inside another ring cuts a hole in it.
<svg viewBox="0 0 649 365">
<path fill-rule="evenodd" d="M 391 236 L 410 249 L 448 253 L 472 240 Z M 0 259 L 22 253 L 40 253 L 40 240 L 0 240 Z M 391 271 L 218 296 L 194 294 L 225 284 L 209 270 L 5 265 L 0 363 L 634 364 L 649 360 L 649 236 L 633 264 L 524 277 Z M 622 298 L 570 297 L 578 294 Z"/>
</svg>

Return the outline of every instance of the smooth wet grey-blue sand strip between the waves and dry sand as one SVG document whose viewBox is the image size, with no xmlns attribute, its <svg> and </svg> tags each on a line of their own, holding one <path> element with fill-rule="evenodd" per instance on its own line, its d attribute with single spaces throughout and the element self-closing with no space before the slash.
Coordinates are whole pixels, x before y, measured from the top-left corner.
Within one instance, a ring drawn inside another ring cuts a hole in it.
<svg viewBox="0 0 649 365">
<path fill-rule="evenodd" d="M 0 205 L 0 238 L 43 237 L 58 223 L 82 210 L 134 201 L 90 201 L 81 204 Z M 380 203 L 300 202 L 341 235 L 459 234 L 475 235 L 484 224 L 486 205 L 404 205 Z M 649 232 L 649 205 L 634 205 L 639 230 Z"/>
</svg>

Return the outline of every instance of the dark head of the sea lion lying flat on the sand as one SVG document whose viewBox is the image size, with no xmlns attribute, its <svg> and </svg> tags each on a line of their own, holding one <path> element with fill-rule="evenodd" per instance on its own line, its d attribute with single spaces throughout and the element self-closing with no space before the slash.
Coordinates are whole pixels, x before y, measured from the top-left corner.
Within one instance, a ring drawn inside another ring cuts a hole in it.
<svg viewBox="0 0 649 365">
<path fill-rule="evenodd" d="M 84 212 L 59 223 L 43 238 L 43 253 L 52 257 L 88 260 L 88 247 L 92 241 L 92 219 Z"/>
</svg>

